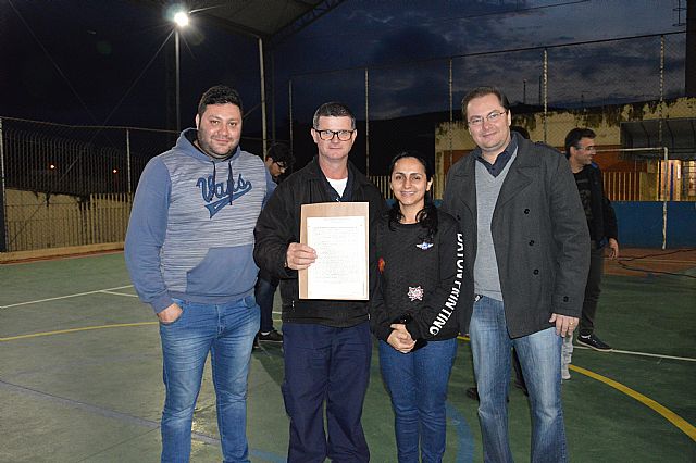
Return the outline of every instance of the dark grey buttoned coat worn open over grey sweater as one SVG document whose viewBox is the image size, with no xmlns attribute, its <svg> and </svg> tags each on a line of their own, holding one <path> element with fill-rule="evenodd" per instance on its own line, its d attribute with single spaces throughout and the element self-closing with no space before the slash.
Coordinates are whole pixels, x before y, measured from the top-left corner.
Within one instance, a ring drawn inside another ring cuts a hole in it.
<svg viewBox="0 0 696 463">
<path fill-rule="evenodd" d="M 469 329 L 474 302 L 476 162 L 470 154 L 452 165 L 443 199 L 464 239 L 464 299 L 458 306 L 462 333 Z M 580 316 L 589 272 L 586 223 L 568 160 L 519 137 L 490 224 L 510 337 L 551 327 L 551 313 Z"/>
</svg>

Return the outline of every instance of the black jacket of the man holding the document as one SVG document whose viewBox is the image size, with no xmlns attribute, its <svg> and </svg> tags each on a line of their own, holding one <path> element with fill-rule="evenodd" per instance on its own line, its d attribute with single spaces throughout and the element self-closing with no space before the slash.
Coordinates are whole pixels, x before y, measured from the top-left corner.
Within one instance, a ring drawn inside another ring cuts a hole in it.
<svg viewBox="0 0 696 463">
<path fill-rule="evenodd" d="M 376 284 L 374 234 L 376 223 L 385 209 L 385 201 L 368 177 L 348 162 L 348 178 L 353 202 L 370 203 L 370 293 Z M 290 242 L 300 241 L 300 211 L 302 204 L 331 202 L 325 176 L 316 158 L 285 179 L 266 203 L 253 232 L 253 259 L 257 265 L 281 278 L 284 323 L 316 323 L 326 326 L 349 327 L 368 320 L 368 301 L 300 300 L 297 271 L 285 267 L 285 255 Z"/>
</svg>

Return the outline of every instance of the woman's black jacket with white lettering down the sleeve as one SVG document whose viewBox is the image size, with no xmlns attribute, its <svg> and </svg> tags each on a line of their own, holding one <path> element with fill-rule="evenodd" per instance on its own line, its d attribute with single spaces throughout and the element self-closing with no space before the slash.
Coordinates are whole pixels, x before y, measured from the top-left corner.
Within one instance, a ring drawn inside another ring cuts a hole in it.
<svg viewBox="0 0 696 463">
<path fill-rule="evenodd" d="M 463 243 L 457 221 L 438 211 L 437 233 L 428 242 L 420 224 L 388 225 L 388 213 L 377 227 L 378 280 L 371 298 L 370 324 L 387 340 L 389 325 L 410 315 L 406 329 L 413 339 L 445 340 L 459 333 L 456 313 L 463 273 Z"/>
</svg>

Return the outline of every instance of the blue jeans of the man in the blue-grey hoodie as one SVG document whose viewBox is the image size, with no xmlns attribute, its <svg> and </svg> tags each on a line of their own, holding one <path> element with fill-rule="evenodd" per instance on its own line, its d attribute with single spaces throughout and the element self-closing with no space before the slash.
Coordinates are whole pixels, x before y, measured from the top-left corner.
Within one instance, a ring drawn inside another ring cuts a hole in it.
<svg viewBox="0 0 696 463">
<path fill-rule="evenodd" d="M 252 296 L 217 305 L 175 302 L 182 315 L 173 323 L 160 323 L 166 389 L 162 462 L 189 460 L 194 408 L 209 352 L 224 461 L 248 462 L 247 376 L 259 330 L 258 305 Z"/>
</svg>

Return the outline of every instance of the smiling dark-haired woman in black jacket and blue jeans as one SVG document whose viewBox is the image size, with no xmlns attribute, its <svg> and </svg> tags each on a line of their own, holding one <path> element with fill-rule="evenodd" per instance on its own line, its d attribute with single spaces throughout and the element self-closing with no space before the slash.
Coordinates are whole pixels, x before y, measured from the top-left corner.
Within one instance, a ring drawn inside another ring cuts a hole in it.
<svg viewBox="0 0 696 463">
<path fill-rule="evenodd" d="M 463 243 L 457 222 L 433 203 L 433 170 L 423 155 L 397 154 L 389 176 L 396 202 L 377 228 L 380 281 L 370 322 L 391 397 L 399 462 L 439 462 Z"/>
</svg>

